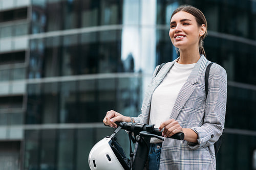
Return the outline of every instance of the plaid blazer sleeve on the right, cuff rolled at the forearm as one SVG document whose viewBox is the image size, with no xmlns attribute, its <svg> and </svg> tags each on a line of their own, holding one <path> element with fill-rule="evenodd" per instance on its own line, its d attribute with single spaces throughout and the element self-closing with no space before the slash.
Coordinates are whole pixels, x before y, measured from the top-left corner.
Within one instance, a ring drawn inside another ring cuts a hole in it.
<svg viewBox="0 0 256 170">
<path fill-rule="evenodd" d="M 214 66 L 215 65 L 215 66 Z M 201 127 L 190 128 L 198 134 L 198 143 L 187 142 L 189 148 L 203 148 L 214 144 L 224 129 L 226 101 L 227 101 L 227 74 L 218 64 L 209 75 L 209 89 L 206 99 L 204 122 Z M 212 72 L 212 73 L 211 73 Z"/>
</svg>

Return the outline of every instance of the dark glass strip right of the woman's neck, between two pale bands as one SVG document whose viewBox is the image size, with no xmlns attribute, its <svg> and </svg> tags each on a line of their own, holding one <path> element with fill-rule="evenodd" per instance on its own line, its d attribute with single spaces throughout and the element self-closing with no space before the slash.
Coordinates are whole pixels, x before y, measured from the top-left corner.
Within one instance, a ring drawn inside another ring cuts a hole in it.
<svg viewBox="0 0 256 170">
<path fill-rule="evenodd" d="M 228 80 L 256 84 L 255 45 L 246 41 L 238 42 L 208 36 L 204 47 L 207 59 L 217 62 L 226 69 Z"/>
</svg>

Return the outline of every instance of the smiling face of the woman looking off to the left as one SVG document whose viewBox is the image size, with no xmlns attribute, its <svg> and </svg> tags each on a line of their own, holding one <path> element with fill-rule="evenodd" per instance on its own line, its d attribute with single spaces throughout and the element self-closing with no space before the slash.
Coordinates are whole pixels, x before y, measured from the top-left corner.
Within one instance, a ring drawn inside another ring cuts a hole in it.
<svg viewBox="0 0 256 170">
<path fill-rule="evenodd" d="M 205 31 L 205 25 L 198 26 L 196 18 L 185 11 L 177 12 L 170 20 L 169 37 L 180 50 L 199 48 L 199 39 Z"/>
</svg>

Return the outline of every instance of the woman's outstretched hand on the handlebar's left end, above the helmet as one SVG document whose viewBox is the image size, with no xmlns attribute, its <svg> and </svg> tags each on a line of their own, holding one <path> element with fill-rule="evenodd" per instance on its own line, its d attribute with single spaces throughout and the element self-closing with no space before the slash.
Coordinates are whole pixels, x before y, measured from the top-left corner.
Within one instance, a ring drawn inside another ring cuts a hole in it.
<svg viewBox="0 0 256 170">
<path fill-rule="evenodd" d="M 106 112 L 106 116 L 103 119 L 103 123 L 106 126 L 111 126 L 112 128 L 117 128 L 117 125 L 115 124 L 115 122 L 131 122 L 131 118 L 127 117 L 127 116 L 123 116 L 122 114 L 120 114 L 114 110 L 110 110 L 110 111 Z"/>
</svg>

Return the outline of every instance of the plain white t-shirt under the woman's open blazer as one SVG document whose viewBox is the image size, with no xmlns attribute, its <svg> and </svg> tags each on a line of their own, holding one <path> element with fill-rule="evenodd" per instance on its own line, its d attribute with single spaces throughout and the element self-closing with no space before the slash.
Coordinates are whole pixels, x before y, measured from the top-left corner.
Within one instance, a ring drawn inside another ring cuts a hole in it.
<svg viewBox="0 0 256 170">
<path fill-rule="evenodd" d="M 151 100 L 150 125 L 155 124 L 159 128 L 160 124 L 169 119 L 173 110 L 178 93 L 187 80 L 194 64 L 179 64 L 175 62 L 163 81 L 155 89 Z M 159 143 L 162 140 L 151 138 L 151 143 Z"/>
</svg>

